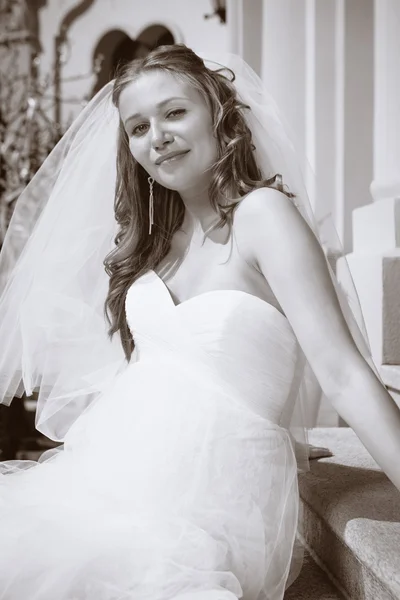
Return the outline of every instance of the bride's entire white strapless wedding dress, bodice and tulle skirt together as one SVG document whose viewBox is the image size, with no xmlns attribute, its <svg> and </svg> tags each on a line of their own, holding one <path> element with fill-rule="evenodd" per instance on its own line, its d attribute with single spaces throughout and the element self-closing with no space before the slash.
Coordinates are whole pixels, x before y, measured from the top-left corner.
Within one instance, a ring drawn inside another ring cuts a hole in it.
<svg viewBox="0 0 400 600">
<path fill-rule="evenodd" d="M 133 360 L 62 449 L 1 464 L 1 600 L 281 600 L 299 510 L 288 320 L 237 290 L 175 306 L 154 271 L 126 312 Z"/>
</svg>

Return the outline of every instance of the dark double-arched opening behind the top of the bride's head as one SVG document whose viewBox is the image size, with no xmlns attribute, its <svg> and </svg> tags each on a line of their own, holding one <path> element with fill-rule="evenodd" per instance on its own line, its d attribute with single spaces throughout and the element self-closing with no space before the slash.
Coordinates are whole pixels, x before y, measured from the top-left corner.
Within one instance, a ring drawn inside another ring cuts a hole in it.
<svg viewBox="0 0 400 600">
<path fill-rule="evenodd" d="M 96 94 L 108 81 L 115 76 L 117 67 L 134 58 L 146 56 L 158 46 L 174 44 L 174 36 L 163 25 L 146 27 L 136 40 L 132 40 L 121 29 L 108 31 L 98 41 L 93 52 L 93 64 L 101 59 L 101 67 L 92 90 Z"/>
</svg>

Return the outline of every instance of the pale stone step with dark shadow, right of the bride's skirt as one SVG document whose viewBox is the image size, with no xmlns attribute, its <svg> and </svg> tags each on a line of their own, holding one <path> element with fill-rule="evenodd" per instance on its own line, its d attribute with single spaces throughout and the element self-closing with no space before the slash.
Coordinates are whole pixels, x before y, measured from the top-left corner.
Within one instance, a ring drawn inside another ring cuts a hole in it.
<svg viewBox="0 0 400 600">
<path fill-rule="evenodd" d="M 400 493 L 350 428 L 309 440 L 334 456 L 299 478 L 305 545 L 351 600 L 399 600 Z"/>
</svg>

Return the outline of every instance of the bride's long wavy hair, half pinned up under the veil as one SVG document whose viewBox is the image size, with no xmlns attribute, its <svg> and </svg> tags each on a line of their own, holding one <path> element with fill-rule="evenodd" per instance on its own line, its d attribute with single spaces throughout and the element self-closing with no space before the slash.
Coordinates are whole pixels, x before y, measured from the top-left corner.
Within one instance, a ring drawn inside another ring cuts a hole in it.
<svg viewBox="0 0 400 600">
<path fill-rule="evenodd" d="M 118 108 L 121 92 L 143 73 L 166 71 L 188 81 L 205 98 L 211 111 L 213 133 L 217 142 L 217 160 L 210 174 L 209 199 L 219 214 L 211 228 L 232 228 L 234 211 L 241 198 L 260 187 L 274 187 L 289 197 L 280 174 L 263 179 L 256 163 L 252 135 L 244 113 L 250 107 L 237 97 L 234 73 L 227 68 L 213 71 L 203 60 L 183 44 L 160 46 L 146 57 L 124 65 L 115 78 L 112 100 Z M 133 158 L 128 135 L 120 120 L 117 150 L 117 183 L 114 211 L 119 225 L 116 247 L 104 266 L 110 277 L 104 312 L 110 325 L 110 338 L 120 332 L 121 342 L 129 362 L 135 347 L 125 314 L 128 289 L 141 275 L 154 269 L 168 254 L 174 233 L 181 227 L 185 212 L 178 192 L 154 183 L 154 223 L 149 235 L 148 173 Z M 236 190 L 238 198 L 229 194 Z M 220 204 L 224 199 L 223 204 Z M 231 200 L 229 202 L 229 200 Z M 228 202 L 227 202 L 228 201 Z M 209 233 L 209 232 L 207 232 Z M 110 313 L 110 314 L 109 314 Z"/>
</svg>

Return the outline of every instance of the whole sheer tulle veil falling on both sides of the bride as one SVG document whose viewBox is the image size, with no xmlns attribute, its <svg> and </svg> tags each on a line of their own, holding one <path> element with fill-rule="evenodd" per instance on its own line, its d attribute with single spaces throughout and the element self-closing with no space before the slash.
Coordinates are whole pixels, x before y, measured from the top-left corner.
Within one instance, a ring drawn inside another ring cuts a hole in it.
<svg viewBox="0 0 400 600">
<path fill-rule="evenodd" d="M 260 78 L 238 56 L 201 54 L 209 69 L 229 68 L 263 175 L 279 173 L 318 239 L 305 182 L 307 161 Z M 119 115 L 108 83 L 82 110 L 19 197 L 0 255 L 0 401 L 38 391 L 36 427 L 62 441 L 83 410 L 126 368 L 121 341 L 104 318 L 108 276 L 103 260 L 117 232 L 114 218 Z M 337 247 L 331 222 L 324 246 Z M 354 286 L 346 293 L 328 264 L 358 347 L 374 368 Z M 349 273 L 349 271 L 348 271 Z M 351 277 L 349 276 L 351 282 Z M 307 361 L 298 365 L 297 394 L 286 425 L 308 468 L 305 411 Z M 374 368 L 375 370 L 375 368 Z"/>
</svg>

